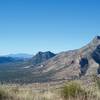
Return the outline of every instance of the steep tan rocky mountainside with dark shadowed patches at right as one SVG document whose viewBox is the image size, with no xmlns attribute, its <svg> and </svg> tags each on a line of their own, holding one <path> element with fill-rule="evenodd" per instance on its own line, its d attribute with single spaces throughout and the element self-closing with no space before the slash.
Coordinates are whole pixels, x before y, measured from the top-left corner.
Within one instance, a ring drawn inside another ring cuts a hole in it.
<svg viewBox="0 0 100 100">
<path fill-rule="evenodd" d="M 83 75 L 92 75 L 98 73 L 99 65 L 93 58 L 93 52 L 99 48 L 100 36 L 96 36 L 88 45 L 78 50 L 62 52 L 47 62 L 43 63 L 42 74 L 52 73 L 50 78 L 71 79 Z M 97 49 L 96 49 L 97 48 Z M 100 53 L 100 51 L 98 50 Z M 99 60 L 98 55 L 98 60 Z"/>
</svg>

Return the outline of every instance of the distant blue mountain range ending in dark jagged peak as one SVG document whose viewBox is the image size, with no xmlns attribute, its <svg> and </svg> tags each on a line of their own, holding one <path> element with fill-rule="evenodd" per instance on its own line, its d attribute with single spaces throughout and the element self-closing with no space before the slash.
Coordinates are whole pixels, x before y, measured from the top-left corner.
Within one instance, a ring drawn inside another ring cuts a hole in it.
<svg viewBox="0 0 100 100">
<path fill-rule="evenodd" d="M 46 60 L 54 57 L 56 54 L 47 52 L 38 52 L 35 56 L 29 54 L 9 54 L 5 56 L 0 56 L 0 64 L 5 63 L 17 63 L 17 62 L 30 62 L 33 66 L 36 66 Z"/>
</svg>

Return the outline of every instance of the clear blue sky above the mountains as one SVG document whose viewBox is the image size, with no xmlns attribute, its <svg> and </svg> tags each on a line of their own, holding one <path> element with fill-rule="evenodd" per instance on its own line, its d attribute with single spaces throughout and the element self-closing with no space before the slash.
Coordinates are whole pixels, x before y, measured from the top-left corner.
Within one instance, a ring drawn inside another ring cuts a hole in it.
<svg viewBox="0 0 100 100">
<path fill-rule="evenodd" d="M 100 0 L 0 0 L 0 55 L 80 48 L 100 35 Z"/>
</svg>

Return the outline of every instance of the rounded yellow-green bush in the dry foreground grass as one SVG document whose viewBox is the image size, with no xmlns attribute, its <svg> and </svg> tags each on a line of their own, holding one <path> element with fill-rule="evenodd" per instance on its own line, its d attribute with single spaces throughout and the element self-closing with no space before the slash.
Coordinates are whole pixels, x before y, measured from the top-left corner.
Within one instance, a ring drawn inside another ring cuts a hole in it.
<svg viewBox="0 0 100 100">
<path fill-rule="evenodd" d="M 68 98 L 77 98 L 77 97 L 84 97 L 86 99 L 87 93 L 84 89 L 81 88 L 81 86 L 75 82 L 71 82 L 67 85 L 65 85 L 62 89 L 62 96 L 65 99 Z"/>
</svg>

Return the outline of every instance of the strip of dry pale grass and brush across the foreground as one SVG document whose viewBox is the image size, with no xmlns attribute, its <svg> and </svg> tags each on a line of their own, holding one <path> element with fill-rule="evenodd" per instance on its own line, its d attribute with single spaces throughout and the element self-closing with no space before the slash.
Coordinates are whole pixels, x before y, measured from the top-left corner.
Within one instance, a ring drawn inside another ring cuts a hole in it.
<svg viewBox="0 0 100 100">
<path fill-rule="evenodd" d="M 0 100 L 100 100 L 100 90 L 94 83 L 88 88 L 80 81 L 66 84 L 1 85 Z"/>
</svg>

